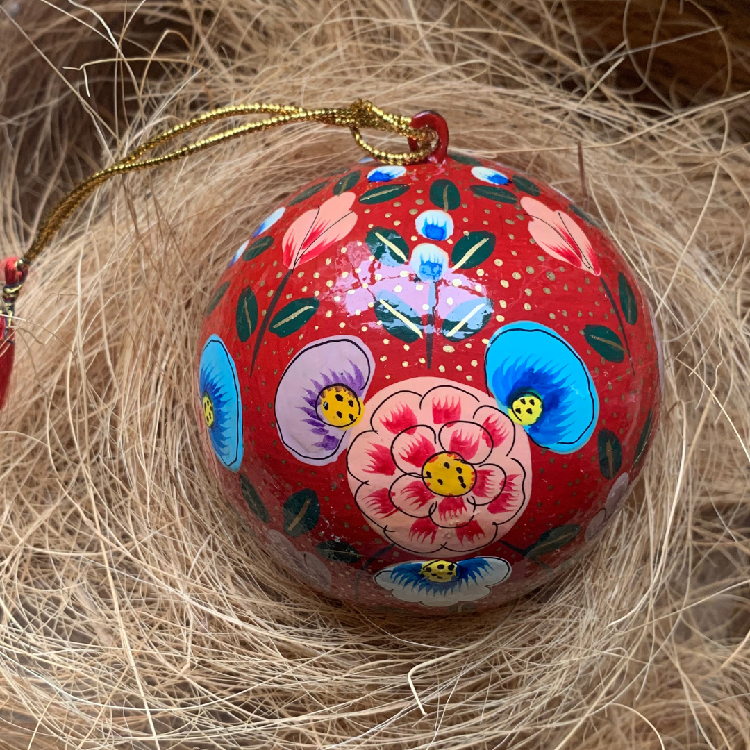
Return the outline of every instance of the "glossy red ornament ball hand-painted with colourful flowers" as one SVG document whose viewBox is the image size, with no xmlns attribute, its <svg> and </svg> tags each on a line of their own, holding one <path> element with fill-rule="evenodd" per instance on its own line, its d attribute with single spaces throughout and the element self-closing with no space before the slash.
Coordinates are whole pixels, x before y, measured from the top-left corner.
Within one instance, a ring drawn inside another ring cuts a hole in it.
<svg viewBox="0 0 750 750">
<path fill-rule="evenodd" d="M 320 592 L 422 613 L 529 592 L 595 537 L 663 381 L 598 223 L 458 153 L 293 193 L 233 255 L 198 346 L 205 448 L 260 544 Z"/>
</svg>

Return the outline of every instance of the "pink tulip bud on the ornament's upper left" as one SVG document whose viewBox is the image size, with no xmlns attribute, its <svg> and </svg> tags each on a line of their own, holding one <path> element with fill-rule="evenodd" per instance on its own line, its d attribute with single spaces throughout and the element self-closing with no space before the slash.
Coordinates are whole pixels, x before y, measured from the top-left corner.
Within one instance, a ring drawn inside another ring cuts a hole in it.
<svg viewBox="0 0 750 750">
<path fill-rule="evenodd" d="M 282 242 L 284 265 L 294 269 L 341 242 L 354 228 L 354 193 L 341 193 L 297 217 Z"/>
</svg>

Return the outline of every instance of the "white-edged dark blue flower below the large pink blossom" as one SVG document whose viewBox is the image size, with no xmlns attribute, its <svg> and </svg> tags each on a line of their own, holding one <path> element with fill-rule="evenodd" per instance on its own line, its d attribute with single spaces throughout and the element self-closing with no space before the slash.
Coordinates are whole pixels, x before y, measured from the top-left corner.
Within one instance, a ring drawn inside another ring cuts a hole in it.
<svg viewBox="0 0 750 750">
<path fill-rule="evenodd" d="M 415 560 L 389 565 L 374 580 L 397 599 L 449 607 L 459 601 L 476 601 L 490 595 L 490 586 L 502 583 L 511 566 L 501 557 L 472 557 L 450 560 Z"/>
</svg>

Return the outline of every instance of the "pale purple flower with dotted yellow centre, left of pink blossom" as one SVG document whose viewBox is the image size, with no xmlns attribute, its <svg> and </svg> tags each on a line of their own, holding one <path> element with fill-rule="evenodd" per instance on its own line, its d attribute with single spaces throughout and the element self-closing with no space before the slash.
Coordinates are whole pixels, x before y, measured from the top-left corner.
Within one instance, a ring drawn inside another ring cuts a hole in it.
<svg viewBox="0 0 750 750">
<path fill-rule="evenodd" d="M 354 336 L 314 341 L 287 365 L 274 410 L 281 442 L 304 463 L 335 461 L 364 413 L 375 363 Z"/>
</svg>

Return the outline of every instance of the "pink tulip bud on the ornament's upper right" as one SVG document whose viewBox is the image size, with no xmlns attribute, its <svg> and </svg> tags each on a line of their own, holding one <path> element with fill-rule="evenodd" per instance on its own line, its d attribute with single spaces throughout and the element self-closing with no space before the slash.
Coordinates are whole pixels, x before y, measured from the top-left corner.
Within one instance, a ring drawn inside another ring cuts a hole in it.
<svg viewBox="0 0 750 750">
<path fill-rule="evenodd" d="M 520 199 L 520 205 L 532 217 L 529 232 L 545 253 L 595 276 L 601 274 L 589 238 L 570 214 L 553 211 L 541 201 L 528 196 Z"/>
</svg>

